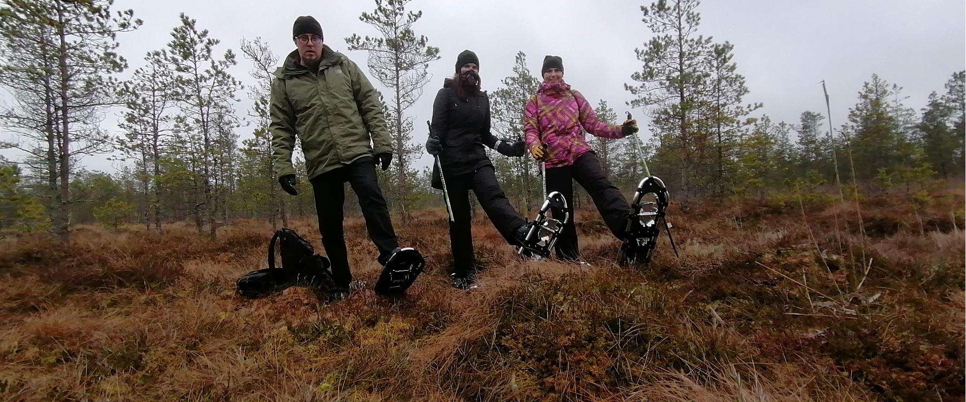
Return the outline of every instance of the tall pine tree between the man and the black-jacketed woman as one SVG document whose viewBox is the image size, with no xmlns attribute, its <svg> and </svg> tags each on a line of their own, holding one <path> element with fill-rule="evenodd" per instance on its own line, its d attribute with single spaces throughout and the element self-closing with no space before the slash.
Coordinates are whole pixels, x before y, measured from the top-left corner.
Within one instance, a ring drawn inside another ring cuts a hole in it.
<svg viewBox="0 0 966 402">
<path fill-rule="evenodd" d="M 395 147 L 395 206 L 404 220 L 410 219 L 409 198 L 414 176 L 411 160 L 420 147 L 412 145 L 412 118 L 406 111 L 412 107 L 422 88 L 429 82 L 429 62 L 440 59 L 440 49 L 429 46 L 424 36 L 416 36 L 412 24 L 422 12 L 406 11 L 411 0 L 376 0 L 372 13 L 362 13 L 359 20 L 376 28 L 380 37 L 346 38 L 349 50 L 369 52 L 369 71 L 389 89 L 386 121 Z"/>
</svg>

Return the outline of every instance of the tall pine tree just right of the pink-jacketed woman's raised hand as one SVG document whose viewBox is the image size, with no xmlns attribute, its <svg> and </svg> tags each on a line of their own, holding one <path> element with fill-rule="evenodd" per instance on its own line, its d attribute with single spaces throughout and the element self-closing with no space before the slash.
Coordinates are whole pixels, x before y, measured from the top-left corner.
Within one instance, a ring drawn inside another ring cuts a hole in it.
<svg viewBox="0 0 966 402">
<path fill-rule="evenodd" d="M 624 85 L 637 95 L 630 105 L 652 108 L 651 127 L 659 143 L 659 159 L 679 172 L 679 188 L 686 202 L 694 195 L 699 153 L 707 145 L 706 133 L 697 124 L 706 96 L 711 38 L 697 35 L 698 4 L 697 0 L 660 0 L 640 7 L 642 21 L 658 35 L 645 48 L 635 49 L 643 67 L 631 78 L 639 84 Z"/>
</svg>

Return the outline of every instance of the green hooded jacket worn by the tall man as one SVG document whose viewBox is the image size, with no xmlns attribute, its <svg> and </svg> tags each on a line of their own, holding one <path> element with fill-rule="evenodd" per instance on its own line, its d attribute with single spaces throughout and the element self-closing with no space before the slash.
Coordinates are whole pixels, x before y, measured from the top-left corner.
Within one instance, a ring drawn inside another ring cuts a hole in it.
<svg viewBox="0 0 966 402">
<path fill-rule="evenodd" d="M 310 179 L 364 156 L 392 152 L 379 92 L 353 61 L 328 45 L 324 49 L 316 73 L 298 64 L 298 50 L 275 70 L 269 130 L 276 177 L 296 173 L 297 135 Z"/>
</svg>

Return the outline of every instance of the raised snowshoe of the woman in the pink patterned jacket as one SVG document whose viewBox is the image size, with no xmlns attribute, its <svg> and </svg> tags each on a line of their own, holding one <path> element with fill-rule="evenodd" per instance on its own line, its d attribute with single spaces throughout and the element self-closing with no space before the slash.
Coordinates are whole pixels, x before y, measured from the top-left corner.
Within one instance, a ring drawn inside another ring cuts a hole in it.
<svg viewBox="0 0 966 402">
<path fill-rule="evenodd" d="M 638 190 L 631 202 L 631 216 L 624 227 L 623 244 L 620 246 L 621 262 L 648 263 L 658 244 L 661 226 L 668 231 L 671 248 L 677 255 L 674 238 L 670 236 L 670 225 L 666 218 L 668 212 L 668 187 L 657 176 L 647 176 L 640 180 Z"/>
</svg>

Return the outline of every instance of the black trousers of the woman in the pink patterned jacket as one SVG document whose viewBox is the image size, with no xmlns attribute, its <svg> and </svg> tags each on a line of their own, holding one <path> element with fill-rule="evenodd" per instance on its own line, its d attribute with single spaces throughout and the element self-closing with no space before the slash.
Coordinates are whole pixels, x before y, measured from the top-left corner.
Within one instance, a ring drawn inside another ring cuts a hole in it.
<svg viewBox="0 0 966 402">
<path fill-rule="evenodd" d="M 600 160 L 594 152 L 582 154 L 573 165 L 547 169 L 547 192 L 557 191 L 567 199 L 570 207 L 570 220 L 564 223 L 563 231 L 556 241 L 556 256 L 560 259 L 576 260 L 580 257 L 577 245 L 577 226 L 574 225 L 574 182 L 587 191 L 594 205 L 600 211 L 601 217 L 611 233 L 620 238 L 631 215 L 631 204 L 624 195 L 611 184 L 611 180 L 604 174 Z M 559 211 L 554 211 L 554 219 L 563 219 Z"/>
</svg>

